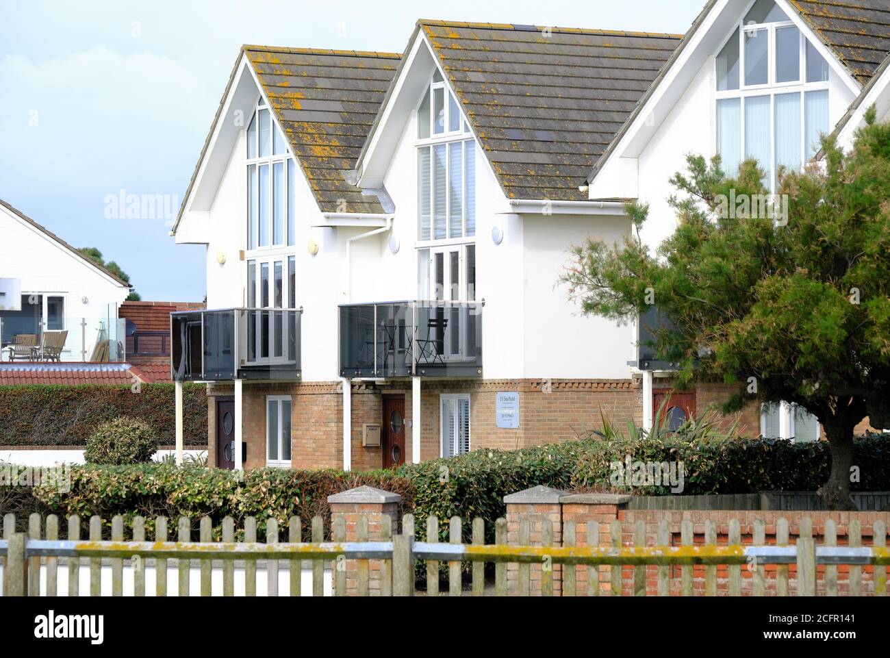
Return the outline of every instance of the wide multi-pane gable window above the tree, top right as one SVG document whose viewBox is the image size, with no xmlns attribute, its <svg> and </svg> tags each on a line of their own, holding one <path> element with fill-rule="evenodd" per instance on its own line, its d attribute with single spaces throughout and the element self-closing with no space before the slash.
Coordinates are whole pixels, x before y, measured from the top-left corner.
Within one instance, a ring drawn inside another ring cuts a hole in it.
<svg viewBox="0 0 890 658">
<path fill-rule="evenodd" d="M 775 191 L 829 132 L 829 65 L 773 0 L 757 0 L 716 55 L 716 150 L 727 175 L 756 158 Z"/>
</svg>

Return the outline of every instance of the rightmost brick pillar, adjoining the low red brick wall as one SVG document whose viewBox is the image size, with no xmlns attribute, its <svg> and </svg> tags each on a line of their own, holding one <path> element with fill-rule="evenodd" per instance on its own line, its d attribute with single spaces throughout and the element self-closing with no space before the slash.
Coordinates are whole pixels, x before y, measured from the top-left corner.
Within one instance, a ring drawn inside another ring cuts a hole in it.
<svg viewBox="0 0 890 658">
<path fill-rule="evenodd" d="M 620 493 L 573 493 L 560 497 L 562 504 L 562 525 L 566 522 L 575 522 L 575 545 L 587 546 L 587 524 L 591 521 L 599 523 L 600 541 L 602 547 L 611 546 L 610 524 L 619 518 L 627 509 L 631 497 Z M 578 589 L 576 596 L 587 596 L 587 567 L 576 567 L 576 579 Z M 607 566 L 599 567 L 600 592 L 608 594 L 611 583 L 611 570 Z"/>
</svg>

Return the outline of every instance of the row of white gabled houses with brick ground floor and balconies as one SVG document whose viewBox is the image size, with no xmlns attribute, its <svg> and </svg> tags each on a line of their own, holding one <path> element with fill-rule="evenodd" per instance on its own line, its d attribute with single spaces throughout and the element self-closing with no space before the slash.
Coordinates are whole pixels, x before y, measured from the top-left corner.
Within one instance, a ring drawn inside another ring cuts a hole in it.
<svg viewBox="0 0 890 658">
<path fill-rule="evenodd" d="M 567 250 L 620 240 L 630 199 L 666 237 L 689 152 L 802 167 L 857 101 L 886 108 L 888 26 L 876 0 L 715 0 L 684 37 L 421 20 L 401 56 L 244 46 L 173 231 L 206 245 L 172 361 L 208 382 L 212 463 L 388 467 L 725 400 L 580 316 Z"/>
</svg>

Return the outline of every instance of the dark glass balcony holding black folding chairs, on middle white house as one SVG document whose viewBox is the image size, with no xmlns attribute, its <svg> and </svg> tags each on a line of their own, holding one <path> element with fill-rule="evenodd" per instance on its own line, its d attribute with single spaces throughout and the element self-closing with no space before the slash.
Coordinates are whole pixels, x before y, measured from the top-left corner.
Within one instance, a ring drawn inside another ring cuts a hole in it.
<svg viewBox="0 0 890 658">
<path fill-rule="evenodd" d="M 340 306 L 340 375 L 481 377 L 482 304 L 403 301 Z"/>
</svg>

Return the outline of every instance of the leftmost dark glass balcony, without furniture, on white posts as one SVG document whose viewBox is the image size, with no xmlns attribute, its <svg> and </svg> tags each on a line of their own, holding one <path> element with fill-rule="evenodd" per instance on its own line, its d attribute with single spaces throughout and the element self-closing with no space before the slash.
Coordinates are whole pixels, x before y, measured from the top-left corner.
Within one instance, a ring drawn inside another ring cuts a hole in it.
<svg viewBox="0 0 890 658">
<path fill-rule="evenodd" d="M 175 381 L 299 380 L 303 309 L 171 313 Z"/>
</svg>

